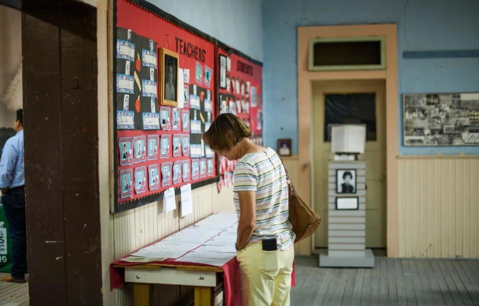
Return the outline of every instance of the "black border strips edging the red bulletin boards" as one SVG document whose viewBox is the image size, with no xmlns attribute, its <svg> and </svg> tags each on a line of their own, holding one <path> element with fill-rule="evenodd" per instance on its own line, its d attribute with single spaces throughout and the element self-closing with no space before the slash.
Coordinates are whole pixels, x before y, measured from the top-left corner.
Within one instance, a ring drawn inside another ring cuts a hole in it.
<svg viewBox="0 0 479 306">
<path fill-rule="evenodd" d="M 240 55 L 241 57 L 257 64 L 257 65 L 260 65 L 262 66 L 263 63 L 258 61 L 258 60 L 255 60 L 253 58 L 251 58 L 250 56 L 242 53 L 241 51 L 239 50 L 236 50 L 230 46 L 228 46 L 227 44 L 219 41 L 218 39 L 200 31 L 199 29 L 197 29 L 196 27 L 193 27 L 189 24 L 187 24 L 186 22 L 178 19 L 177 17 L 173 16 L 172 14 L 170 13 L 167 13 L 166 11 L 162 10 L 161 8 L 159 8 L 158 6 L 146 1 L 146 0 L 129 0 L 130 2 L 138 5 L 139 7 L 143 8 L 143 9 L 146 9 L 147 11 L 150 11 L 162 18 L 164 18 L 165 20 L 179 26 L 179 27 L 182 27 L 184 29 L 186 29 L 187 31 L 190 31 L 192 33 L 194 33 L 195 35 L 198 35 L 199 37 L 213 43 L 215 45 L 215 71 L 216 71 L 216 66 L 218 66 L 218 63 L 217 63 L 217 57 L 218 57 L 218 48 L 221 47 L 223 48 L 224 50 L 226 50 L 228 52 L 228 54 L 231 54 L 231 53 L 236 53 L 238 55 Z M 117 31 L 116 31 L 116 28 L 117 28 L 117 17 L 116 17 L 116 14 L 117 14 L 117 1 L 114 0 L 113 1 L 113 42 L 117 40 Z M 114 47 L 113 48 L 113 61 L 116 60 L 116 48 Z M 116 70 L 116 65 L 113 65 L 113 83 L 115 81 L 115 76 L 116 76 L 116 73 L 117 73 L 117 70 Z M 215 86 L 218 86 L 218 78 L 215 77 Z M 218 88 L 217 88 L 217 92 L 218 92 Z M 116 110 L 117 108 L 117 92 L 116 90 L 113 90 L 113 109 Z M 113 139 L 115 140 L 116 142 L 116 139 L 118 137 L 118 131 L 117 131 L 117 128 L 116 128 L 116 111 L 113 111 L 112 112 L 113 114 Z M 113 194 L 114 194 L 114 203 L 113 203 L 113 214 L 117 214 L 117 213 L 121 213 L 121 212 L 124 212 L 124 211 L 127 211 L 127 210 L 130 210 L 130 209 L 134 209 L 134 208 L 138 208 L 138 207 L 141 207 L 141 206 L 144 206 L 144 205 L 147 205 L 147 204 L 150 204 L 152 202 L 156 202 L 156 201 L 159 201 L 161 199 L 163 199 L 163 193 L 164 192 L 159 192 L 157 194 L 154 194 L 154 195 L 149 195 L 149 196 L 146 196 L 144 198 L 140 198 L 140 199 L 135 199 L 131 202 L 126 202 L 126 203 L 123 203 L 123 204 L 118 204 L 118 164 L 117 164 L 117 160 L 118 160 L 118 150 L 116 150 L 116 146 L 114 145 L 113 146 L 113 167 L 114 167 L 114 182 L 113 182 Z M 217 169 L 218 168 L 218 163 L 217 163 Z M 219 173 L 219 170 L 218 170 L 218 173 Z M 191 184 L 191 189 L 196 189 L 196 188 L 200 188 L 200 187 L 204 187 L 204 186 L 207 186 L 207 185 L 210 185 L 210 184 L 215 184 L 215 183 L 218 183 L 220 181 L 220 175 L 218 174 L 216 177 L 214 178 L 211 178 L 211 179 L 208 179 L 208 180 L 204 180 L 204 181 L 201 181 L 201 182 L 197 182 L 197 183 L 193 183 Z M 175 195 L 179 195 L 180 194 L 180 188 L 175 188 Z"/>
</svg>

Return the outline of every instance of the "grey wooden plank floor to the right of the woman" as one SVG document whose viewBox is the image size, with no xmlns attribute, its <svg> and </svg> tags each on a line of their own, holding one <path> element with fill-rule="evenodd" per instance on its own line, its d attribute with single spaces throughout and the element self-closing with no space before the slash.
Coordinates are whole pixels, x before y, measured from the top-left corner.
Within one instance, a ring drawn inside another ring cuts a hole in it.
<svg viewBox="0 0 479 306">
<path fill-rule="evenodd" d="M 479 305 L 479 261 L 388 259 L 375 267 L 319 268 L 317 257 L 296 257 L 291 306 Z"/>
</svg>

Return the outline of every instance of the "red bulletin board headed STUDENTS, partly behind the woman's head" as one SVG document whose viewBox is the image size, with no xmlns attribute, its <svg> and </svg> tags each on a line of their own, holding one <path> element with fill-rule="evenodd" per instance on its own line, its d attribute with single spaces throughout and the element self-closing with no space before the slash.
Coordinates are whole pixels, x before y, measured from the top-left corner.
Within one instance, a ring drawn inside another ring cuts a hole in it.
<svg viewBox="0 0 479 306">
<path fill-rule="evenodd" d="M 219 43 L 216 73 L 218 112 L 237 115 L 251 129 L 251 141 L 262 145 L 262 64 Z M 233 185 L 235 165 L 236 162 L 219 157 L 219 191 Z"/>
</svg>

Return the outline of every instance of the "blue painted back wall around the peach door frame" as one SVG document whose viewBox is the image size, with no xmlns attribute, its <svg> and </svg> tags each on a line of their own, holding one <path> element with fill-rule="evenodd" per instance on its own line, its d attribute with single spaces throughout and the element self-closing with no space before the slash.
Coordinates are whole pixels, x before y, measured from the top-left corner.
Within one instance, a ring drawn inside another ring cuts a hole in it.
<svg viewBox="0 0 479 306">
<path fill-rule="evenodd" d="M 479 92 L 479 58 L 404 59 L 403 51 L 479 49 L 478 0 L 263 0 L 264 141 L 297 154 L 297 40 L 304 25 L 397 23 L 399 131 L 403 93 Z M 399 154 L 475 154 L 470 147 L 404 147 Z"/>
</svg>

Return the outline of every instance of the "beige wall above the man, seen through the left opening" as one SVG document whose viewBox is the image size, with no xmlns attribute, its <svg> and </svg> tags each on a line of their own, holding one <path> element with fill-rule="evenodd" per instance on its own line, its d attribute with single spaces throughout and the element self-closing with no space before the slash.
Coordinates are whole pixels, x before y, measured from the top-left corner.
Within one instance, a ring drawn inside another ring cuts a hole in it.
<svg viewBox="0 0 479 306">
<path fill-rule="evenodd" d="M 0 127 L 12 127 L 15 119 L 15 110 L 22 107 L 21 85 L 20 92 L 14 93 L 14 100 L 5 101 L 5 93 L 15 74 L 21 71 L 21 12 L 0 5 Z M 20 72 L 21 73 L 21 72 Z M 21 74 L 20 74 L 21 83 Z M 19 94 L 19 95 L 18 95 Z M 8 104 L 8 105 L 6 105 Z"/>
</svg>

